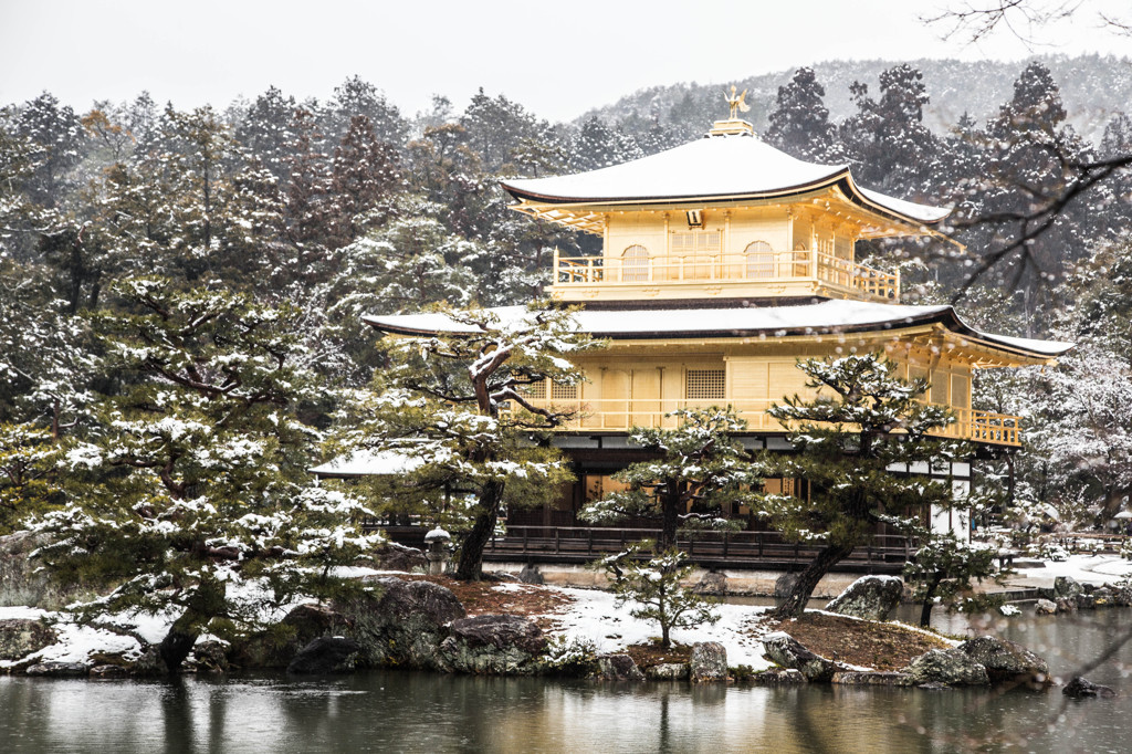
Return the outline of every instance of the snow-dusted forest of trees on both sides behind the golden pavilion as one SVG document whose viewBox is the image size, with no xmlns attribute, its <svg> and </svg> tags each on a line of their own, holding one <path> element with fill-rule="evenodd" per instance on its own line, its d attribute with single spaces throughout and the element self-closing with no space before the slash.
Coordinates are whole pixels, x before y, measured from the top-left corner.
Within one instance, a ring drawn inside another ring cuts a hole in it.
<svg viewBox="0 0 1132 754">
<path fill-rule="evenodd" d="M 839 91 L 840 119 L 801 69 L 762 138 L 955 206 L 946 230 L 966 249 L 859 246 L 901 268 L 906 302 L 961 292 L 975 325 L 1080 343 L 1057 369 L 988 371 L 977 408 L 1039 428 L 984 486 L 1087 520 L 1132 494 L 1132 175 L 1097 168 L 1132 153 L 1132 119 L 1114 111 L 1084 138 L 1049 68 L 1013 76 L 989 117 L 941 132 L 915 66 Z M 225 110 L 148 93 L 86 112 L 50 93 L 3 108 L 0 533 L 95 487 L 143 515 L 209 486 L 301 497 L 300 472 L 385 365 L 361 315 L 525 302 L 555 247 L 600 248 L 509 212 L 499 177 L 617 164 L 724 114 L 721 97 L 689 95 L 551 123 L 481 91 L 462 111 L 436 97 L 410 118 L 358 77 L 326 102 L 271 88 Z M 1082 178 L 1096 180 L 1062 202 Z"/>
</svg>

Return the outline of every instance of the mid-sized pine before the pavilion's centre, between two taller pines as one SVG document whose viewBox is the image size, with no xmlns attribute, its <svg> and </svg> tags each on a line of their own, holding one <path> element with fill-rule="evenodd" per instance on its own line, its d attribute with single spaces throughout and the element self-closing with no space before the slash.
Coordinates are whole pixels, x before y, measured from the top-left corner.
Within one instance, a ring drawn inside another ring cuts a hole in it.
<svg viewBox="0 0 1132 754">
<path fill-rule="evenodd" d="M 591 523 L 616 523 L 627 517 L 650 517 L 661 525 L 660 550 L 676 547 L 679 526 L 687 529 L 735 529 L 737 522 L 723 514 L 723 506 L 748 497 L 752 485 L 761 483 L 743 446 L 732 432 L 746 422 L 728 409 L 688 409 L 669 417 L 675 429 L 634 427 L 629 443 L 651 456 L 614 474 L 627 486 L 606 495 L 578 517 Z"/>
</svg>

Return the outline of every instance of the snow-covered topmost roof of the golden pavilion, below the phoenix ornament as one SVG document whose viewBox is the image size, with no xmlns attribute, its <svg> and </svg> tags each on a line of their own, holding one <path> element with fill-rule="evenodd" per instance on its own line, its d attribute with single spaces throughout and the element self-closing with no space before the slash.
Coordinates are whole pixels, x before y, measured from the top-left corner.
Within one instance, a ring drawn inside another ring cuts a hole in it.
<svg viewBox="0 0 1132 754">
<path fill-rule="evenodd" d="M 950 212 L 860 188 L 848 165 L 797 160 L 749 135 L 710 136 L 610 168 L 501 183 L 517 199 L 546 204 L 758 198 L 838 183 L 850 199 L 914 224 Z"/>
</svg>

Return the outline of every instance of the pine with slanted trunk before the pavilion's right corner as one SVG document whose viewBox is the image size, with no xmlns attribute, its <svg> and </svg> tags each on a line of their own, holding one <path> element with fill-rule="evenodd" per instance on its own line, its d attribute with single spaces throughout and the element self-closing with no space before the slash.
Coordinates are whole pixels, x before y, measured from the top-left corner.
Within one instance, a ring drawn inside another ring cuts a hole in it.
<svg viewBox="0 0 1132 754">
<path fill-rule="evenodd" d="M 756 498 L 783 538 L 820 542 L 822 549 L 775 608 L 780 618 L 801 615 L 822 576 L 867 542 L 878 524 L 909 532 L 931 506 L 955 503 L 950 483 L 898 475 L 890 471 L 893 464 L 969 457 L 964 444 L 926 436 L 952 419 L 946 409 L 919 402 L 926 380 L 899 379 L 883 357 L 809 359 L 798 368 L 816 397 L 795 395 L 771 406 L 769 413 L 790 431 L 794 452 L 767 452 L 761 461 L 765 477 L 806 480 L 808 494 Z"/>
</svg>

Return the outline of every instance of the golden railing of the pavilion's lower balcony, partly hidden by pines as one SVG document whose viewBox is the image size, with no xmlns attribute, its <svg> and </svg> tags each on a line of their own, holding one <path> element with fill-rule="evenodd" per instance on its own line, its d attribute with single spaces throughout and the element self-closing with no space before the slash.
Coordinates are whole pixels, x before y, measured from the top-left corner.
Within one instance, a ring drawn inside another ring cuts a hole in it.
<svg viewBox="0 0 1132 754">
<path fill-rule="evenodd" d="M 554 406 L 571 412 L 574 419 L 563 426 L 566 431 L 612 430 L 625 431 L 632 427 L 676 427 L 677 417 L 668 415 L 678 409 L 705 409 L 711 405 L 731 405 L 746 420 L 751 431 L 775 431 L 782 426 L 766 410 L 771 401 L 684 401 L 670 399 L 528 399 L 539 408 Z M 940 437 L 954 437 L 992 445 L 1021 445 L 1021 419 L 989 411 L 952 409 L 957 421 L 932 432 Z"/>
</svg>

